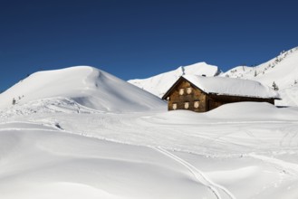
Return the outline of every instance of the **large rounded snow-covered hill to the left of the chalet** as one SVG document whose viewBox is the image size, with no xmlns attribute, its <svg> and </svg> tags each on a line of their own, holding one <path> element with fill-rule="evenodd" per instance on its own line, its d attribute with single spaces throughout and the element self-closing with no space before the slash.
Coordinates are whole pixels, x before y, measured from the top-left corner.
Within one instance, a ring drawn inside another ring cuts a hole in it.
<svg viewBox="0 0 298 199">
<path fill-rule="evenodd" d="M 48 98 L 70 99 L 102 111 L 162 109 L 165 103 L 126 81 L 89 66 L 39 71 L 0 95 L 0 109 Z"/>
</svg>

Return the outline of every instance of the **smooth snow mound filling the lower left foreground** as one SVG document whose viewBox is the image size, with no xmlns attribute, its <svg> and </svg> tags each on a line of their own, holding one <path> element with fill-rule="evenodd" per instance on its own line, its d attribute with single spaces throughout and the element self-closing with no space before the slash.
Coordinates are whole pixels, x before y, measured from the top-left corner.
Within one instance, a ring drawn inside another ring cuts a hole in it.
<svg viewBox="0 0 298 199">
<path fill-rule="evenodd" d="M 19 126 L 0 133 L 1 198 L 214 196 L 186 167 L 154 148 Z"/>
</svg>

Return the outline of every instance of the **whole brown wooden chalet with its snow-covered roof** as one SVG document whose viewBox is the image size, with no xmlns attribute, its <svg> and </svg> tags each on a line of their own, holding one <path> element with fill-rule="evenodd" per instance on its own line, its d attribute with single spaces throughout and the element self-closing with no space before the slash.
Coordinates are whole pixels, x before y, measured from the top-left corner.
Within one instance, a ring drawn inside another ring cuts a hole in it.
<svg viewBox="0 0 298 199">
<path fill-rule="evenodd" d="M 162 97 L 168 110 L 206 112 L 226 103 L 259 101 L 274 104 L 279 95 L 257 81 L 184 75 Z"/>
</svg>

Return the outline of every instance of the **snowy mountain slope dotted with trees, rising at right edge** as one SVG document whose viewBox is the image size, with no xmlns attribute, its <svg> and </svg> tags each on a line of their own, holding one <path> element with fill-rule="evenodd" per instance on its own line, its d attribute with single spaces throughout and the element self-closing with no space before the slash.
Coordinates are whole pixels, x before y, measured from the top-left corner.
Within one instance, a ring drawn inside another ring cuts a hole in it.
<svg viewBox="0 0 298 199">
<path fill-rule="evenodd" d="M 268 86 L 275 82 L 280 90 L 292 87 L 298 84 L 298 47 L 255 67 L 237 66 L 221 76 L 260 81 Z"/>
</svg>

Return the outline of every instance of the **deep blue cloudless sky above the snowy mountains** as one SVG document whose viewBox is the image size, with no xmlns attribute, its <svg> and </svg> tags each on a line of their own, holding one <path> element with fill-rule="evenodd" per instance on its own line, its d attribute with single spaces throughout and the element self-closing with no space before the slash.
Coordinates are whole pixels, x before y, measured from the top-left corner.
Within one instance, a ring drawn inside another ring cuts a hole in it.
<svg viewBox="0 0 298 199">
<path fill-rule="evenodd" d="M 91 65 L 123 80 L 207 62 L 223 71 L 298 46 L 295 1 L 1 0 L 0 91 Z"/>
</svg>

